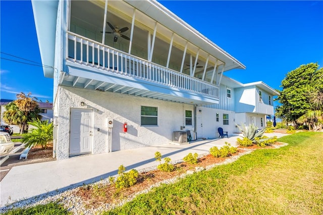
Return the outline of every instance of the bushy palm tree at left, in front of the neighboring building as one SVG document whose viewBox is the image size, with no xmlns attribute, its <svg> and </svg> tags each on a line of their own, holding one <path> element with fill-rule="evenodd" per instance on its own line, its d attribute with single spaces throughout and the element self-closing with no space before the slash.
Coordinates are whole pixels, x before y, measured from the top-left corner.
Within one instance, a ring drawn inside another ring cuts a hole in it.
<svg viewBox="0 0 323 215">
<path fill-rule="evenodd" d="M 3 115 L 7 124 L 19 126 L 21 134 L 28 130 L 27 122 L 32 121 L 33 118 L 41 119 L 37 99 L 30 95 L 31 93 L 17 94 L 17 100 L 6 105 Z"/>
</svg>

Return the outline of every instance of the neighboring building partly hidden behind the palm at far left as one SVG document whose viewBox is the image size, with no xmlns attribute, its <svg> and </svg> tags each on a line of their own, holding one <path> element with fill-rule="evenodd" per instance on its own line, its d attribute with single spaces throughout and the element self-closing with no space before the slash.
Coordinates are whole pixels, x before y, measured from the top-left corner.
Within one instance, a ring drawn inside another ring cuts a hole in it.
<svg viewBox="0 0 323 215">
<path fill-rule="evenodd" d="M 6 111 L 6 105 L 9 104 L 10 102 L 13 102 L 14 100 L 10 99 L 1 99 L 0 100 L 0 107 L 1 107 L 1 124 L 2 125 L 7 125 L 6 122 L 3 120 L 3 114 Z M 52 109 L 52 103 L 49 102 L 38 102 L 39 108 L 40 108 L 40 113 L 41 115 L 41 120 L 47 120 L 50 121 L 53 118 L 53 109 Z M 14 129 L 14 133 L 19 133 L 20 128 L 18 125 L 10 125 Z"/>
</svg>

